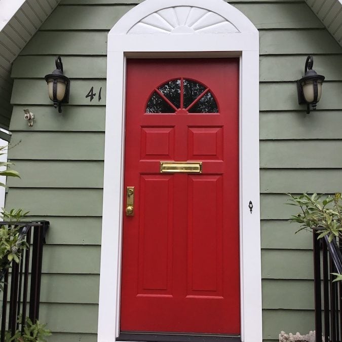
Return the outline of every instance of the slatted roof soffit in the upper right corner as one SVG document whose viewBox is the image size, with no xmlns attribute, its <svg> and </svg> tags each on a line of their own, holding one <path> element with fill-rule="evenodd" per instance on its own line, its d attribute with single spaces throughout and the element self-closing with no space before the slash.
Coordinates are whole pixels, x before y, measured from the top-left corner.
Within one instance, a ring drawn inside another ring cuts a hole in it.
<svg viewBox="0 0 342 342">
<path fill-rule="evenodd" d="M 305 0 L 342 47 L 342 0 Z"/>
</svg>

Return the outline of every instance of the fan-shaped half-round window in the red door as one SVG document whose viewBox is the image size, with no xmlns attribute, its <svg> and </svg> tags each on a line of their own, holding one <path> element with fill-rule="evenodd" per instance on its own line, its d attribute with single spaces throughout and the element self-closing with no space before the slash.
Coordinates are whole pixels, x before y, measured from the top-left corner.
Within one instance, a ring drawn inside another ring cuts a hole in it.
<svg viewBox="0 0 342 342">
<path fill-rule="evenodd" d="M 218 108 L 209 88 L 196 81 L 180 78 L 155 89 L 148 100 L 146 113 L 217 113 Z"/>
</svg>

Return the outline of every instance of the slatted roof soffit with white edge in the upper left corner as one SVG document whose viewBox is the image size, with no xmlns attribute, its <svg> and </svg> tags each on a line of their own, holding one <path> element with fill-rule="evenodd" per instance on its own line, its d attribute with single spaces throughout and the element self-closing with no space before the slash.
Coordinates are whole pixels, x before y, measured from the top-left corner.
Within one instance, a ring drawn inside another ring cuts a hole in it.
<svg viewBox="0 0 342 342">
<path fill-rule="evenodd" d="M 11 119 L 12 63 L 59 2 L 0 0 L 0 127 Z"/>
</svg>

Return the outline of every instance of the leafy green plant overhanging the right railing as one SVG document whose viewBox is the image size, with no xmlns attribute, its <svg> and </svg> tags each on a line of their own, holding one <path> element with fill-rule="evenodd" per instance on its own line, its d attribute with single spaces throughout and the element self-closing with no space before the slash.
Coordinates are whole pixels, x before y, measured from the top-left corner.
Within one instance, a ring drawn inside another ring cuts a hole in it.
<svg viewBox="0 0 342 342">
<path fill-rule="evenodd" d="M 341 194 L 336 193 L 332 196 L 313 194 L 302 194 L 293 196 L 288 194 L 290 205 L 300 208 L 300 212 L 292 215 L 290 221 L 300 223 L 300 229 L 296 232 L 306 229 L 316 231 L 318 239 L 328 236 L 331 242 L 334 238 L 342 239 L 342 199 Z M 342 275 L 332 273 L 336 276 L 333 281 L 342 280 Z"/>
</svg>

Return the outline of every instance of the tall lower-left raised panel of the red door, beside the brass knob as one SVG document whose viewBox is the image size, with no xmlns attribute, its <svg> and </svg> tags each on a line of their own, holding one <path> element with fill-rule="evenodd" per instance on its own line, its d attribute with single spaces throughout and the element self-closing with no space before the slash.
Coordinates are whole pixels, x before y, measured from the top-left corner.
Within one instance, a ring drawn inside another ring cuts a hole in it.
<svg viewBox="0 0 342 342">
<path fill-rule="evenodd" d="M 141 175 L 138 295 L 172 293 L 172 203 L 172 176 Z"/>
</svg>

